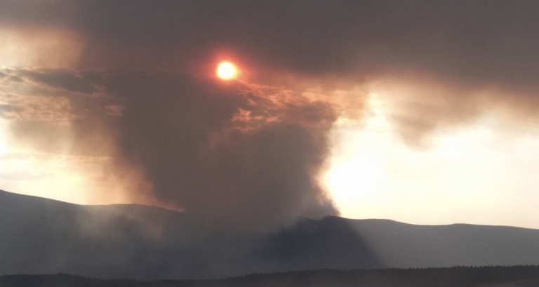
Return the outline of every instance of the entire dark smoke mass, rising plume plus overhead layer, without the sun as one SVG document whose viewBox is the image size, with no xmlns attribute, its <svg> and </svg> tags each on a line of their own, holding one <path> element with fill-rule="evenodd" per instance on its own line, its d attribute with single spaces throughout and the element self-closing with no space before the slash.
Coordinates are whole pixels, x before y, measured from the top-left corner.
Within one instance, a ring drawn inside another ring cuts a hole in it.
<svg viewBox="0 0 539 287">
<path fill-rule="evenodd" d="M 313 100 L 312 88 L 364 86 L 353 99 L 363 109 L 369 84 L 408 85 L 390 117 L 413 145 L 492 108 L 537 120 L 537 1 L 34 2 L 2 1 L 1 27 L 67 29 L 81 56 L 13 76 L 76 93 L 74 151 L 104 145 L 117 173 L 142 169 L 133 192 L 145 182 L 208 221 L 335 213 L 316 176 L 352 105 Z M 210 79 L 223 57 L 244 82 Z"/>
</svg>

